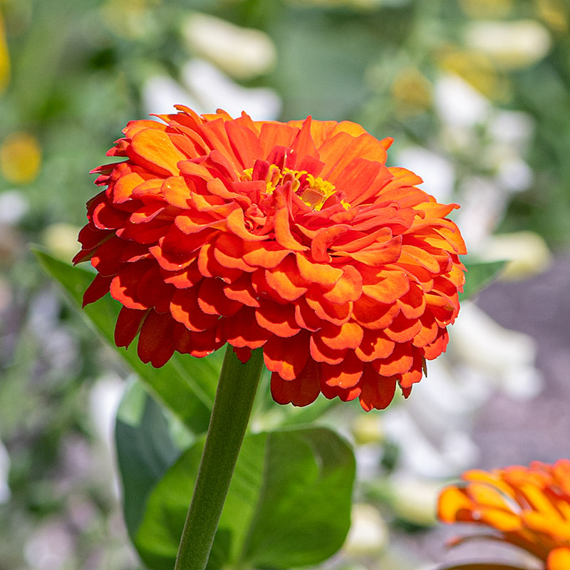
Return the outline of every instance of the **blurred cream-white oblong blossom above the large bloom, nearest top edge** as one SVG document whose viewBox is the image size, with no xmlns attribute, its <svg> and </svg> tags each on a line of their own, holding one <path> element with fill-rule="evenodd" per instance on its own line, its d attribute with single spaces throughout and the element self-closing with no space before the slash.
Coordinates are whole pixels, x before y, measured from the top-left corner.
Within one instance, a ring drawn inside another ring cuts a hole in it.
<svg viewBox="0 0 570 570">
<path fill-rule="evenodd" d="M 240 28 L 206 14 L 192 14 L 182 33 L 193 54 L 236 79 L 251 79 L 274 67 L 277 51 L 261 30 Z"/>
</svg>

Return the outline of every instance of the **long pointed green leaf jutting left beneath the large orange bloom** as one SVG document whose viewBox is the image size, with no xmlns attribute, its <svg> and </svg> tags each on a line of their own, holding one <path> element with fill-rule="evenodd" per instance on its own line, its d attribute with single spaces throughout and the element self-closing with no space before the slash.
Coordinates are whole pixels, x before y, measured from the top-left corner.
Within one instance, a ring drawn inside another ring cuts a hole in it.
<svg viewBox="0 0 570 570">
<path fill-rule="evenodd" d="M 55 259 L 37 249 L 34 253 L 47 273 L 63 286 L 73 304 L 81 308 L 83 291 L 93 280 L 93 273 Z M 106 295 L 96 303 L 86 306 L 81 312 L 162 403 L 192 432 L 205 432 L 221 365 L 219 355 L 216 353 L 208 358 L 198 359 L 175 353 L 162 368 L 143 364 L 137 356 L 136 343 L 131 344 L 127 351 L 115 346 L 113 331 L 119 310 L 120 304 L 110 295 Z"/>
</svg>

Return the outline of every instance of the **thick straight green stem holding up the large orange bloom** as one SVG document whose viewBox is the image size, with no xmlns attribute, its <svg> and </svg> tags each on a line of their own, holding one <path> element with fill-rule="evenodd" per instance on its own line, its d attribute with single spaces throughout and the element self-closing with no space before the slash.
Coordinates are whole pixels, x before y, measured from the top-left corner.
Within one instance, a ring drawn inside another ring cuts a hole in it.
<svg viewBox="0 0 570 570">
<path fill-rule="evenodd" d="M 242 364 L 227 345 L 206 445 L 178 547 L 175 570 L 203 570 L 252 413 L 263 368 L 261 348 Z"/>
</svg>

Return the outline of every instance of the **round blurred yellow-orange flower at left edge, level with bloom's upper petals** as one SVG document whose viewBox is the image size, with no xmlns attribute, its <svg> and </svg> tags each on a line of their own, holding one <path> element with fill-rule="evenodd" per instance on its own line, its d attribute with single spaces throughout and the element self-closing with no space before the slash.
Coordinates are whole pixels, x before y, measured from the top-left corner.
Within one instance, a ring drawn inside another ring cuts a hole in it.
<svg viewBox="0 0 570 570">
<path fill-rule="evenodd" d="M 0 146 L 0 172 L 9 182 L 36 180 L 41 166 L 41 147 L 30 133 L 12 133 Z"/>
</svg>

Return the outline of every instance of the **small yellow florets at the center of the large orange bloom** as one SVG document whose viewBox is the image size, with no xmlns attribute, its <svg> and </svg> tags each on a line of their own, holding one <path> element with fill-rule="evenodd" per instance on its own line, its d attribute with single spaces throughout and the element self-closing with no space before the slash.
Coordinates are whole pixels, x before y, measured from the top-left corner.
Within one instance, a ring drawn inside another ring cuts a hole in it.
<svg viewBox="0 0 570 570">
<path fill-rule="evenodd" d="M 253 180 L 254 169 L 248 168 L 244 170 L 242 180 Z M 267 195 L 272 194 L 276 187 L 282 186 L 287 182 L 291 182 L 291 190 L 297 196 L 317 212 L 323 207 L 326 199 L 336 192 L 336 188 L 328 180 L 314 176 L 306 172 L 306 170 L 291 170 L 291 168 L 279 168 L 277 165 L 270 165 L 265 176 Z M 344 209 L 348 209 L 350 204 L 341 200 Z"/>
</svg>

